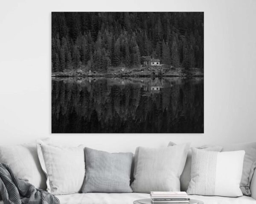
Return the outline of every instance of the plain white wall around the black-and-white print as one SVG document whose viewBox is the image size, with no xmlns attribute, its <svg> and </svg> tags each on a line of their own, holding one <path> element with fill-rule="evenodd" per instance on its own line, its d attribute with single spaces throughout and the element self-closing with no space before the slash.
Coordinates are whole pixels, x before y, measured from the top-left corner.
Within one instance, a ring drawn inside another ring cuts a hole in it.
<svg viewBox="0 0 256 204">
<path fill-rule="evenodd" d="M 255 0 L 0 3 L 0 144 L 50 137 L 108 151 L 256 141 Z M 204 11 L 204 134 L 51 134 L 51 11 Z"/>
</svg>

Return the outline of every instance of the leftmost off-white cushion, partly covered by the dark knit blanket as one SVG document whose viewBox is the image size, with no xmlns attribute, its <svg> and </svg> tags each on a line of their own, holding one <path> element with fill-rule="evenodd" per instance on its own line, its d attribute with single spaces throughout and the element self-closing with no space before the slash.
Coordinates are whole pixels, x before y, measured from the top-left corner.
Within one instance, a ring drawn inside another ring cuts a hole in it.
<svg viewBox="0 0 256 204">
<path fill-rule="evenodd" d="M 8 164 L 18 178 L 36 188 L 46 189 L 46 177 L 38 160 L 35 143 L 1 145 L 0 162 Z"/>
</svg>

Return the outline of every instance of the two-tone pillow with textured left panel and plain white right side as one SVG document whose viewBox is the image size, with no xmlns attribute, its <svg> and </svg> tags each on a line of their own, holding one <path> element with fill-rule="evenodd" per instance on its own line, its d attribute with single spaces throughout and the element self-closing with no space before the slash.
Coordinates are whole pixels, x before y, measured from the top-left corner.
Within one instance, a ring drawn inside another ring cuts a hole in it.
<svg viewBox="0 0 256 204">
<path fill-rule="evenodd" d="M 242 196 L 240 181 L 244 150 L 213 152 L 192 148 L 191 181 L 188 194 Z"/>
</svg>

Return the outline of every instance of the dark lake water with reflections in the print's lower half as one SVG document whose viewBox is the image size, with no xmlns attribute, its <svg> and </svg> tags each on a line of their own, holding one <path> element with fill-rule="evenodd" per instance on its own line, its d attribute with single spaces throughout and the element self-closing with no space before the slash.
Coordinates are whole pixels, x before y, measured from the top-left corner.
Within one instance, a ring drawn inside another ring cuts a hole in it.
<svg viewBox="0 0 256 204">
<path fill-rule="evenodd" d="M 53 78 L 52 133 L 204 133 L 204 79 Z"/>
</svg>

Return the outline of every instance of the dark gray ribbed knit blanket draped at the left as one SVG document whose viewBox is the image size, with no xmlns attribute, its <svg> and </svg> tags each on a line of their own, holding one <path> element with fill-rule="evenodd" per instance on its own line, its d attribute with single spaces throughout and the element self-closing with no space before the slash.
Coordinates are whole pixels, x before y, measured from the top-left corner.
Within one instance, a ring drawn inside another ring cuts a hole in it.
<svg viewBox="0 0 256 204">
<path fill-rule="evenodd" d="M 3 163 L 0 163 L 0 195 L 4 204 L 60 204 L 54 195 L 17 178 Z"/>
</svg>

